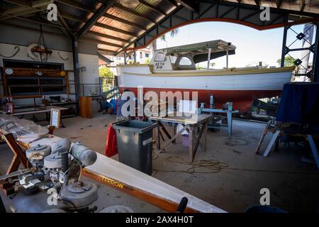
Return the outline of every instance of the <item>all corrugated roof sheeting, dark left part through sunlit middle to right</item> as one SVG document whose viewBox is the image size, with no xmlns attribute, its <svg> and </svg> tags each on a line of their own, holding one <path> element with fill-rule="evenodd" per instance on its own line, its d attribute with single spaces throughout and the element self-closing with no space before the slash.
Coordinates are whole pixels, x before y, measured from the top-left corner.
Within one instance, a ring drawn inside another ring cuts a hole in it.
<svg viewBox="0 0 319 227">
<path fill-rule="evenodd" d="M 180 4 L 187 8 L 182 0 L 140 0 L 135 8 L 125 8 L 121 1 L 116 1 L 105 13 L 94 23 L 89 31 L 82 36 L 86 40 L 99 43 L 101 51 L 116 53 L 125 48 L 133 48 L 135 38 L 147 32 L 155 23 L 162 20 L 167 14 L 177 9 Z M 206 0 L 206 3 L 216 0 Z M 221 1 L 220 1 L 221 2 Z M 225 0 L 223 2 L 238 3 L 238 0 Z M 35 21 L 47 26 L 61 26 L 65 31 L 77 33 L 90 18 L 99 11 L 104 0 L 56 0 L 57 9 L 61 15 L 60 23 L 48 23 L 45 21 L 48 0 L 33 1 L 0 1 L 1 21 L 8 21 L 10 18 Z M 319 1 L 314 0 L 241 0 L 240 4 L 254 5 L 269 4 L 276 9 L 289 10 L 292 13 L 306 12 L 319 14 Z M 40 19 L 38 19 L 40 18 Z M 62 29 L 62 30 L 63 30 Z M 113 52 L 112 52 L 113 51 Z"/>
</svg>

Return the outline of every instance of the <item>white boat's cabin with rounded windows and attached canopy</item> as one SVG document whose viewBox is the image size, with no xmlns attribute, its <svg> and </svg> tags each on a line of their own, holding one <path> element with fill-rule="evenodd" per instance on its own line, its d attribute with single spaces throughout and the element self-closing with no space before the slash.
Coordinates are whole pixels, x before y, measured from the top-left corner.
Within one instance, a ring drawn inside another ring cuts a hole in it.
<svg viewBox="0 0 319 227">
<path fill-rule="evenodd" d="M 209 69 L 210 60 L 226 56 L 228 67 L 228 55 L 234 55 L 235 49 L 235 45 L 223 40 L 180 45 L 155 50 L 149 65 L 152 65 L 155 71 L 196 70 L 196 63 L 208 61 Z"/>
</svg>

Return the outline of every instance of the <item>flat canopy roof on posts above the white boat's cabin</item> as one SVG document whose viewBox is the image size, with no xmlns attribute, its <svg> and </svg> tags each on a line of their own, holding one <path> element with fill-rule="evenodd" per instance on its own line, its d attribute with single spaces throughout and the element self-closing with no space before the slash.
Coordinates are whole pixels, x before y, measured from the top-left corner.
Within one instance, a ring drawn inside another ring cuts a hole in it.
<svg viewBox="0 0 319 227">
<path fill-rule="evenodd" d="M 208 49 L 211 48 L 211 60 L 225 55 L 235 55 L 235 45 L 225 42 L 224 40 L 211 40 L 202 43 L 193 43 L 188 45 L 179 45 L 172 48 L 163 48 L 155 50 L 160 52 L 166 50 L 166 55 L 181 56 L 191 55 L 194 63 L 204 62 L 208 57 Z"/>
</svg>

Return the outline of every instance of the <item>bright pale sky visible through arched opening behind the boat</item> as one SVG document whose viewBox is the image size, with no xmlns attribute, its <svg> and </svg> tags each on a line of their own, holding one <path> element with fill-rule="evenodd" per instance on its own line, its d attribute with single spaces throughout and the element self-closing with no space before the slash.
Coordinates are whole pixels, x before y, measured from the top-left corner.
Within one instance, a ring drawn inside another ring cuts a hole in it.
<svg viewBox="0 0 319 227">
<path fill-rule="evenodd" d="M 303 26 L 292 27 L 296 33 L 303 31 Z M 235 55 L 229 56 L 229 67 L 246 67 L 250 63 L 263 61 L 269 66 L 276 66 L 281 58 L 281 47 L 284 28 L 275 28 L 266 31 L 258 31 L 254 28 L 242 26 L 236 23 L 227 22 L 201 22 L 193 23 L 179 28 L 177 36 L 172 38 L 169 33 L 166 35 L 166 42 L 157 40 L 157 49 L 199 43 L 209 40 L 225 40 L 236 46 Z M 289 30 L 287 45 L 296 39 L 296 33 Z M 301 48 L 301 41 L 298 40 L 291 48 Z M 292 57 L 300 57 L 301 52 L 291 53 Z M 212 60 L 216 63 L 213 68 L 226 67 L 226 57 L 219 57 Z M 312 61 L 312 57 L 310 58 Z M 206 67 L 205 62 L 201 65 Z"/>
</svg>

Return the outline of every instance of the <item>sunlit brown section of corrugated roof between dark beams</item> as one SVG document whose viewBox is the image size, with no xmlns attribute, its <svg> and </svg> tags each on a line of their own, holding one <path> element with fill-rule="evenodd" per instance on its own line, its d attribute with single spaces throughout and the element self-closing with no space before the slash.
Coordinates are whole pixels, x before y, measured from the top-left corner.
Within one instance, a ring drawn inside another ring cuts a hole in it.
<svg viewBox="0 0 319 227">
<path fill-rule="evenodd" d="M 112 38 L 99 38 L 104 42 L 109 42 L 115 45 L 127 45 L 139 35 L 147 31 L 147 28 L 154 25 L 152 22 L 157 22 L 163 18 L 168 12 L 176 6 L 167 0 L 144 0 L 133 9 L 127 9 L 125 6 L 116 3 L 99 18 L 98 22 L 90 31 L 95 33 L 103 33 L 112 37 L 128 40 L 127 43 L 120 40 L 112 40 Z M 162 12 L 162 13 L 161 13 Z M 94 38 L 91 33 L 85 35 L 85 38 Z M 133 46 L 131 46 L 133 47 Z M 121 50 L 121 48 L 112 45 L 99 45 L 100 50 Z"/>
</svg>

